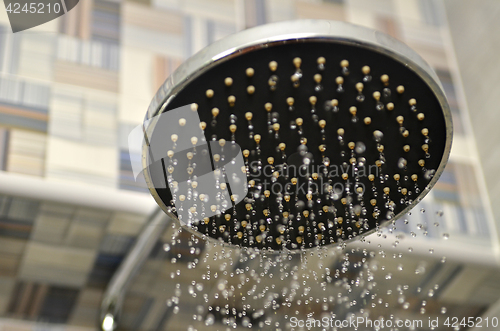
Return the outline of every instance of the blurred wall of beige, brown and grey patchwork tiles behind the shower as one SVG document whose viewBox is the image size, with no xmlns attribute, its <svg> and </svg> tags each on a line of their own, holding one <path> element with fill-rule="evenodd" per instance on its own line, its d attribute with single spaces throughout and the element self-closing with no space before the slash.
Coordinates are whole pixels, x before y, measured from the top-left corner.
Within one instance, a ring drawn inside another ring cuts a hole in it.
<svg viewBox="0 0 500 331">
<path fill-rule="evenodd" d="M 0 330 L 34 330 L 33 322 L 94 329 L 106 284 L 155 206 L 144 181 L 133 178 L 130 158 L 140 151 L 129 155 L 127 136 L 156 89 L 213 41 L 298 18 L 383 31 L 436 70 L 452 108 L 454 146 L 445 173 L 417 208 L 425 212 L 415 210 L 407 225 L 398 225 L 399 236 L 421 248 L 425 257 L 416 259 L 428 260 L 429 276 L 401 277 L 423 289 L 440 284 L 430 314 L 447 303 L 463 316 L 486 310 L 500 297 L 498 232 L 470 121 L 476 110 L 467 110 L 453 48 L 450 6 L 441 0 L 83 0 L 63 17 L 16 34 L 2 11 Z M 162 247 L 127 297 L 128 329 L 185 330 L 192 319 L 194 305 L 172 316 L 166 304 L 175 254 Z M 430 247 L 450 263 L 425 254 Z M 176 268 L 188 270 L 188 262 Z"/>
</svg>

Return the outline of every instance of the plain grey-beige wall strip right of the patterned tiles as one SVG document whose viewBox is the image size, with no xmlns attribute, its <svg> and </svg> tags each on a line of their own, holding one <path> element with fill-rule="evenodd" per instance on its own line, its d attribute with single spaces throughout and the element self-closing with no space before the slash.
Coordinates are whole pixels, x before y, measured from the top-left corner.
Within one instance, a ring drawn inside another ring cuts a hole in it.
<svg viewBox="0 0 500 331">
<path fill-rule="evenodd" d="M 474 6 L 468 1 L 445 1 L 456 62 L 467 103 L 467 119 L 471 124 L 475 144 L 491 201 L 500 194 L 500 133 L 496 123 L 500 120 L 498 82 L 500 81 L 500 13 L 494 0 Z M 466 18 L 466 19 L 464 19 Z M 496 222 L 500 220 L 500 205 L 491 204 Z"/>
</svg>

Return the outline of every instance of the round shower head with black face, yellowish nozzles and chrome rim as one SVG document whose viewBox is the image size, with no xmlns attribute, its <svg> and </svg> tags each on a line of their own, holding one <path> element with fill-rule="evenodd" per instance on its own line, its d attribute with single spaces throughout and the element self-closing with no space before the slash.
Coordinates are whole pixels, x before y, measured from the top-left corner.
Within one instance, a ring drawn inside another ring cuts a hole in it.
<svg viewBox="0 0 500 331">
<path fill-rule="evenodd" d="M 307 20 L 188 59 L 144 132 L 146 181 L 166 213 L 228 244 L 295 250 L 366 236 L 414 207 L 445 167 L 452 123 L 436 74 L 406 45 Z"/>
</svg>

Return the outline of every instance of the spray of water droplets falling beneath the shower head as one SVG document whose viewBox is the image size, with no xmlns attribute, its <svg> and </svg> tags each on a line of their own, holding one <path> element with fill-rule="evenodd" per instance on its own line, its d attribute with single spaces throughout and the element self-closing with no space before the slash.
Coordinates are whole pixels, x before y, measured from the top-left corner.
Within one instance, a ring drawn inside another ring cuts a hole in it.
<svg viewBox="0 0 500 331">
<path fill-rule="evenodd" d="M 434 241 L 448 240 L 448 233 L 436 231 L 442 216 L 438 211 L 430 217 L 432 223 L 418 223 L 415 231 L 405 231 L 410 214 L 359 241 L 298 252 L 259 252 L 213 240 L 200 251 L 202 239 L 191 235 L 187 254 L 196 258 L 188 259 L 191 262 L 187 268 L 196 270 L 189 275 L 197 274 L 199 278 L 186 286 L 185 271 L 177 262 L 182 254 L 173 257 L 170 277 L 176 285 L 166 305 L 178 314 L 181 307 L 196 301 L 192 321 L 185 322 L 189 331 L 209 326 L 214 330 L 355 330 L 352 325 L 340 324 L 350 320 L 365 321 L 358 324 L 360 330 L 378 330 L 381 326 L 388 330 L 418 330 L 418 325 L 395 327 L 398 320 L 409 323 L 418 319 L 424 323 L 423 329 L 438 330 L 425 323 L 436 312 L 446 315 L 447 308 L 436 307 L 434 300 L 440 284 L 423 288 L 418 280 L 426 277 L 433 260 L 446 262 L 446 257 L 437 256 L 433 241 L 422 242 L 429 236 L 430 226 L 437 236 Z M 165 251 L 180 243 L 178 235 L 182 231 L 174 225 L 171 241 L 164 244 Z M 428 245 L 428 256 L 416 256 L 412 242 Z M 409 245 L 407 249 L 401 248 L 403 243 Z M 329 325 L 311 324 L 314 320 L 328 320 Z M 368 320 L 378 322 L 366 328 Z M 386 324 L 380 324 L 382 320 Z M 304 323 L 302 328 L 299 323 Z M 388 323 L 393 327 L 387 327 Z"/>
</svg>

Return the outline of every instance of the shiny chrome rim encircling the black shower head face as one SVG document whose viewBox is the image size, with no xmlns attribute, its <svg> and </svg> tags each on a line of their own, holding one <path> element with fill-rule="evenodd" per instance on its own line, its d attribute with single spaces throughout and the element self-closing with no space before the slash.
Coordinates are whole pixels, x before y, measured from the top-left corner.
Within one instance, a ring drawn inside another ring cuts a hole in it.
<svg viewBox="0 0 500 331">
<path fill-rule="evenodd" d="M 402 42 L 376 30 L 353 25 L 345 22 L 337 21 L 323 21 L 323 20 L 297 20 L 273 23 L 268 25 L 259 26 L 256 28 L 244 30 L 236 34 L 230 35 L 220 41 L 217 41 L 200 52 L 196 53 L 188 60 L 186 60 L 175 72 L 167 78 L 165 83 L 159 88 L 154 96 L 151 104 L 146 113 L 145 120 L 149 120 L 148 127 L 143 127 L 147 135 L 151 134 L 155 128 L 155 117 L 165 111 L 169 103 L 175 98 L 179 91 L 183 90 L 191 81 L 203 75 L 205 72 L 214 66 L 228 61 L 241 54 L 254 51 L 262 48 L 270 48 L 277 45 L 293 44 L 311 41 L 321 41 L 324 43 L 334 42 L 347 45 L 355 45 L 360 48 L 369 49 L 381 53 L 392 60 L 404 64 L 408 69 L 416 73 L 430 88 L 436 97 L 441 110 L 443 112 L 445 125 L 446 125 L 446 143 L 444 153 L 439 163 L 439 167 L 429 184 L 422 190 L 415 200 L 401 212 L 396 214 L 392 220 L 397 220 L 410 209 L 414 208 L 431 190 L 431 188 L 438 181 L 439 177 L 444 171 L 448 162 L 449 154 L 451 151 L 453 126 L 452 116 L 448 102 L 446 101 L 445 94 L 439 83 L 439 79 L 432 68 L 411 48 Z M 154 197 L 155 201 L 162 208 L 162 210 L 172 217 L 177 222 L 178 219 L 174 213 L 171 212 L 171 207 L 165 205 L 163 200 L 158 195 L 150 173 L 148 172 L 148 142 L 145 140 L 143 144 L 143 169 L 148 188 Z M 386 226 L 391 220 L 381 222 L 380 226 Z M 179 222 L 180 223 L 180 222 Z M 217 242 L 228 247 L 238 247 L 229 244 L 210 236 L 201 234 L 187 225 L 182 224 L 182 227 L 192 234 L 200 236 L 209 241 Z M 364 238 L 377 229 L 371 229 L 362 235 Z M 350 242 L 359 240 L 359 238 L 352 238 L 343 240 L 343 242 Z M 336 246 L 339 243 L 325 245 L 324 247 Z M 258 248 L 252 247 L 238 247 L 240 249 L 247 249 L 250 251 L 259 251 Z M 312 249 L 312 248 L 306 248 Z M 287 250 L 294 252 L 294 250 Z"/>
</svg>

